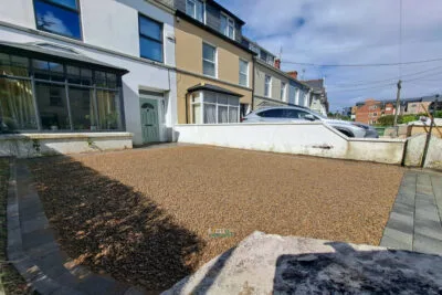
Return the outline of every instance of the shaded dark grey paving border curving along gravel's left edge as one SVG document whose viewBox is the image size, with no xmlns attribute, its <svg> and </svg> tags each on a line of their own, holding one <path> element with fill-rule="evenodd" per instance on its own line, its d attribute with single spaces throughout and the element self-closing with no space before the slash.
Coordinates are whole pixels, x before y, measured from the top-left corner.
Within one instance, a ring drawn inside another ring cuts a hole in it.
<svg viewBox="0 0 442 295">
<path fill-rule="evenodd" d="M 144 294 L 137 287 L 90 272 L 60 249 L 31 173 L 20 162 L 11 167 L 8 191 L 8 259 L 42 295 Z"/>
</svg>

